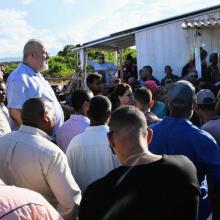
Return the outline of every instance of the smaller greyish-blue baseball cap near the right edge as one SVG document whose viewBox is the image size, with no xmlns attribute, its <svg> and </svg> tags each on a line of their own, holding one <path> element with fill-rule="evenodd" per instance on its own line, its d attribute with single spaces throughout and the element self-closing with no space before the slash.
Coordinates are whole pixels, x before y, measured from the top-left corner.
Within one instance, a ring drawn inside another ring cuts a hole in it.
<svg viewBox="0 0 220 220">
<path fill-rule="evenodd" d="M 201 89 L 196 94 L 197 104 L 199 105 L 209 105 L 215 104 L 215 95 L 209 89 Z"/>
</svg>

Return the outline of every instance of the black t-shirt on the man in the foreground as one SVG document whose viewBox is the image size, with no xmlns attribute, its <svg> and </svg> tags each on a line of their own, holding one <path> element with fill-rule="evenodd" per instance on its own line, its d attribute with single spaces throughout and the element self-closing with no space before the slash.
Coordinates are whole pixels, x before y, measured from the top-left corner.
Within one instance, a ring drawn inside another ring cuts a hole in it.
<svg viewBox="0 0 220 220">
<path fill-rule="evenodd" d="M 185 156 L 121 166 L 88 186 L 80 220 L 195 220 L 199 184 Z"/>
</svg>

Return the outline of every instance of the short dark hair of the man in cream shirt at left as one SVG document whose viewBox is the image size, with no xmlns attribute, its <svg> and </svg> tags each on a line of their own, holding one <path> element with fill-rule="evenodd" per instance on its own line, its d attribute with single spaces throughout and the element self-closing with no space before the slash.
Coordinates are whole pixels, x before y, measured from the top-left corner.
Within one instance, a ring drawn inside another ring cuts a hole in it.
<svg viewBox="0 0 220 220">
<path fill-rule="evenodd" d="M 28 99 L 22 106 L 21 119 L 24 125 L 37 127 L 39 119 L 46 111 L 45 101 L 42 98 Z"/>
</svg>

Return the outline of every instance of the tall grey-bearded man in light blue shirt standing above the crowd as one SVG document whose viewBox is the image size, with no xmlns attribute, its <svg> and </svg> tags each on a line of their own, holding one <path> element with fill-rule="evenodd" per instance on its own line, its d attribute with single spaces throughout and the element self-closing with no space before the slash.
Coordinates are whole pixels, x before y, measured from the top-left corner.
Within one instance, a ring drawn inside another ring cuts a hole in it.
<svg viewBox="0 0 220 220">
<path fill-rule="evenodd" d="M 64 115 L 60 103 L 41 72 L 48 69 L 49 56 L 43 43 L 29 40 L 23 49 L 23 62 L 7 79 L 7 100 L 9 113 L 19 127 L 23 103 L 33 97 L 46 99 L 55 109 L 56 124 L 54 132 L 63 124 Z"/>
</svg>

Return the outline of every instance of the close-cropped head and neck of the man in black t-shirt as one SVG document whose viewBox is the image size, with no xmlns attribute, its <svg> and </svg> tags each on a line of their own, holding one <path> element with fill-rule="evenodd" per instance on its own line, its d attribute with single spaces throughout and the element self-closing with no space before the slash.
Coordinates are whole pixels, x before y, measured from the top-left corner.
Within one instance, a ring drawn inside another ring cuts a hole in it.
<svg viewBox="0 0 220 220">
<path fill-rule="evenodd" d="M 149 153 L 152 131 L 138 108 L 121 106 L 111 115 L 108 139 L 118 159 L 124 163 L 132 155 Z"/>
</svg>

